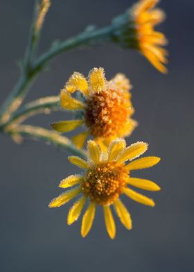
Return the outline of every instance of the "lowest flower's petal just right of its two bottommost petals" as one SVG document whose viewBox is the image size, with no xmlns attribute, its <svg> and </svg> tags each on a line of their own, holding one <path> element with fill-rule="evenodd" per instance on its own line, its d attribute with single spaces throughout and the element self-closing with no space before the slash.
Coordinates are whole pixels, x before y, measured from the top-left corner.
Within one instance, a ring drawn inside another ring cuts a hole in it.
<svg viewBox="0 0 194 272">
<path fill-rule="evenodd" d="M 132 219 L 130 216 L 130 213 L 127 211 L 125 205 L 117 199 L 114 201 L 114 208 L 116 210 L 116 213 L 121 220 L 121 223 L 127 228 L 128 230 L 132 229 Z"/>
</svg>

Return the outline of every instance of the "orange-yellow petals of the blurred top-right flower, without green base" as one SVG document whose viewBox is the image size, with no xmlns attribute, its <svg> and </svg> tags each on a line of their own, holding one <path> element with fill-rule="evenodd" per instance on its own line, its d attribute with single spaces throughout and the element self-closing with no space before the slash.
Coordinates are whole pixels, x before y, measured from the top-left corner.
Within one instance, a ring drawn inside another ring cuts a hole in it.
<svg viewBox="0 0 194 272">
<path fill-rule="evenodd" d="M 141 0 L 132 9 L 132 17 L 136 24 L 136 38 L 141 53 L 150 60 L 161 73 L 167 69 L 163 64 L 167 63 L 168 52 L 161 48 L 166 44 L 163 33 L 155 31 L 154 27 L 164 21 L 164 12 L 155 9 L 159 0 Z"/>
</svg>

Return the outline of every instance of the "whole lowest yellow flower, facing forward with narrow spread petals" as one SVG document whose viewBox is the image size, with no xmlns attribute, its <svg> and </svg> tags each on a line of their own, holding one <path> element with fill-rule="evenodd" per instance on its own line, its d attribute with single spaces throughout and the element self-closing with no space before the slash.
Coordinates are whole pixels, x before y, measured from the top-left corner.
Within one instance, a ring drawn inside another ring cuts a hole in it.
<svg viewBox="0 0 194 272">
<path fill-rule="evenodd" d="M 114 210 L 125 228 L 128 230 L 132 228 L 130 213 L 127 212 L 125 205 L 119 198 L 121 194 L 125 194 L 141 204 L 155 206 L 152 199 L 135 192 L 128 185 L 149 191 L 159 191 L 159 186 L 154 182 L 131 177 L 131 171 L 152 167 L 160 159 L 158 157 L 144 157 L 134 160 L 147 150 L 148 144 L 136 142 L 127 148 L 125 145 L 124 139 L 115 139 L 107 151 L 103 153 L 98 144 L 90 140 L 87 144 L 88 161 L 76 156 L 69 157 L 72 164 L 85 169 L 85 172 L 82 175 L 73 175 L 62 180 L 59 185 L 61 188 L 77 186 L 54 198 L 49 207 L 60 207 L 72 198 L 81 195 L 69 210 L 67 223 L 71 225 L 78 219 L 87 198 L 89 198 L 89 206 L 82 217 L 82 237 L 85 237 L 91 229 L 96 205 L 103 206 L 105 226 L 111 239 L 114 239 L 116 235 L 111 205 L 114 206 Z"/>
</svg>

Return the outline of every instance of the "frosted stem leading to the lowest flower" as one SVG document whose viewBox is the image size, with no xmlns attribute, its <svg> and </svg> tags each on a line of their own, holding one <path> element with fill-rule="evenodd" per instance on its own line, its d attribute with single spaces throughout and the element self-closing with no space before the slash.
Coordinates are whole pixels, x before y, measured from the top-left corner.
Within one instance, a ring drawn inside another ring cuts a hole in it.
<svg viewBox="0 0 194 272">
<path fill-rule="evenodd" d="M 47 144 L 54 144 L 55 146 L 62 148 L 62 150 L 67 151 L 71 155 L 78 155 L 82 159 L 87 158 L 86 152 L 84 150 L 79 150 L 78 148 L 76 148 L 76 146 L 72 144 L 70 139 L 45 128 L 29 125 L 19 125 L 14 129 L 14 131 L 10 130 L 8 131 L 8 133 L 17 133 L 20 136 L 41 140 Z"/>
</svg>

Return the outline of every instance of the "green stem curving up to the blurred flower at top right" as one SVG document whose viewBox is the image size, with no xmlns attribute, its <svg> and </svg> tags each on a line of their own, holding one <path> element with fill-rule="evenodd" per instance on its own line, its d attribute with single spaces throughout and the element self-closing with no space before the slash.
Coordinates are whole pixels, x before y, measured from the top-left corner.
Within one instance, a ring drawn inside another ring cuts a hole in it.
<svg viewBox="0 0 194 272">
<path fill-rule="evenodd" d="M 26 96 L 30 84 L 33 82 L 35 76 L 45 67 L 45 65 L 52 58 L 65 51 L 69 51 L 78 46 L 87 44 L 88 42 L 109 37 L 109 33 L 111 32 L 112 26 L 106 26 L 92 32 L 85 31 L 83 33 L 80 33 L 79 35 L 76 35 L 75 37 L 71 37 L 64 42 L 61 42 L 60 44 L 58 44 L 58 46 L 51 46 L 51 49 L 49 49 L 46 53 L 40 56 L 35 62 L 35 65 L 31 65 L 30 69 L 29 65 L 27 65 L 28 58 L 30 58 L 30 53 L 27 53 L 27 60 L 25 61 L 26 65 L 24 65 L 23 67 L 21 78 L 19 79 L 14 90 L 10 93 L 6 101 L 3 103 L 0 110 L 0 116 L 1 114 L 3 114 L 1 117 L 1 122 L 3 123 L 8 121 L 11 117 L 12 112 L 15 112 L 15 110 L 19 108 L 19 105 L 21 105 L 21 102 L 24 100 L 24 97 Z"/>
</svg>

